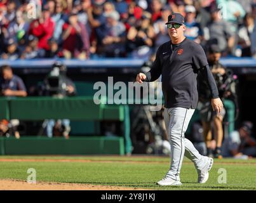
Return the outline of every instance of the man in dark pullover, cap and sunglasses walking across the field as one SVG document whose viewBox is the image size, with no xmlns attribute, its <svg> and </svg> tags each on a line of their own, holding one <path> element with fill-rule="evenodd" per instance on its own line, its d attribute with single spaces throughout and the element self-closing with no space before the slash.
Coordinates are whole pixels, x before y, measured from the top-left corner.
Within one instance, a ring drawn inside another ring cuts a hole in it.
<svg viewBox="0 0 256 203">
<path fill-rule="evenodd" d="M 184 17 L 180 13 L 168 16 L 168 34 L 171 41 L 162 44 L 151 70 L 139 73 L 137 82 L 151 82 L 162 75 L 163 95 L 165 97 L 165 125 L 171 145 L 171 166 L 158 185 L 182 185 L 180 169 L 184 154 L 198 171 L 198 183 L 208 180 L 213 159 L 204 157 L 187 140 L 184 133 L 198 103 L 196 77 L 200 70 L 205 76 L 212 95 L 212 107 L 219 113 L 223 107 L 213 75 L 203 48 L 184 36 Z"/>
</svg>

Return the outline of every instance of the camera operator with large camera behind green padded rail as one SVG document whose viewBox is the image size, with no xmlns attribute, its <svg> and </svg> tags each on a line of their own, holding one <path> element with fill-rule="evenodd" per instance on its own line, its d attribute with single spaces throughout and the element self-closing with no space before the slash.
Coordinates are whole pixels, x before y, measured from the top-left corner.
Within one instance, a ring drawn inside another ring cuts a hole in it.
<svg viewBox="0 0 256 203">
<path fill-rule="evenodd" d="M 76 95 L 76 86 L 74 82 L 66 76 L 66 72 L 67 68 L 61 62 L 55 62 L 53 64 L 53 69 L 44 79 L 44 96 L 57 96 L 62 98 Z M 64 136 L 68 139 L 70 131 L 69 119 L 58 119 L 56 122 L 53 119 L 46 120 L 46 134 L 48 137 Z"/>
</svg>

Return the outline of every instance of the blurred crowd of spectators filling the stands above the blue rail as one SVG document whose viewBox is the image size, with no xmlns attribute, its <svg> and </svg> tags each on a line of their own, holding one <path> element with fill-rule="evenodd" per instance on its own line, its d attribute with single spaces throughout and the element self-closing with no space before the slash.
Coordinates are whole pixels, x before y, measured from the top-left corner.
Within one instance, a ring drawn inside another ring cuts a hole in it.
<svg viewBox="0 0 256 203">
<path fill-rule="evenodd" d="M 204 48 L 256 57 L 255 0 L 2 0 L 0 58 L 148 59 L 177 12 Z"/>
</svg>

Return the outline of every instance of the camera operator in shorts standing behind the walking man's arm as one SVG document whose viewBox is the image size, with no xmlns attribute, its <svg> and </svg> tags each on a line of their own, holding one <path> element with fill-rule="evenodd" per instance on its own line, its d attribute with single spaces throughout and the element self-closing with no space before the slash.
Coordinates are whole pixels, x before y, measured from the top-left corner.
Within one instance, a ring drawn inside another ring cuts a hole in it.
<svg viewBox="0 0 256 203">
<path fill-rule="evenodd" d="M 222 87 L 222 80 L 226 75 L 226 69 L 222 67 L 219 63 L 219 59 L 221 56 L 221 51 L 216 44 L 210 45 L 208 49 L 208 63 L 209 67 L 212 70 L 213 77 L 215 78 L 220 99 L 223 100 L 224 90 Z M 222 139 L 223 139 L 223 128 L 222 128 L 222 121 L 224 115 L 226 114 L 225 108 L 222 108 L 222 111 L 217 114 L 217 112 L 213 112 L 210 103 L 210 89 L 208 88 L 207 82 L 203 79 L 203 76 L 199 73 L 198 74 L 198 93 L 199 93 L 199 103 L 198 109 L 199 114 L 201 117 L 201 122 L 203 124 L 203 136 L 206 143 L 207 148 L 207 155 L 214 156 L 216 158 L 221 159 L 221 146 L 222 146 Z M 214 138 L 216 141 L 216 146 L 212 145 L 212 122 L 214 126 Z M 214 150 L 215 148 L 215 150 Z M 214 151 L 213 151 L 214 150 Z"/>
</svg>

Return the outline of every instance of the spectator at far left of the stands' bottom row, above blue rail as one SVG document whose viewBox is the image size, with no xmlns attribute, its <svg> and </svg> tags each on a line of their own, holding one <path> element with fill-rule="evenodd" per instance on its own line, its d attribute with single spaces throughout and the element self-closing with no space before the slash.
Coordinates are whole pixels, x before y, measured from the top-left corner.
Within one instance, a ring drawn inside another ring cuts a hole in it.
<svg viewBox="0 0 256 203">
<path fill-rule="evenodd" d="M 6 51 L 1 55 L 2 59 L 17 60 L 20 58 L 20 51 L 14 39 L 9 39 L 6 43 Z"/>
</svg>

